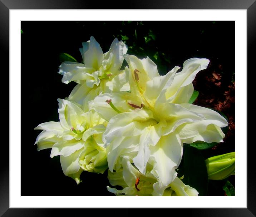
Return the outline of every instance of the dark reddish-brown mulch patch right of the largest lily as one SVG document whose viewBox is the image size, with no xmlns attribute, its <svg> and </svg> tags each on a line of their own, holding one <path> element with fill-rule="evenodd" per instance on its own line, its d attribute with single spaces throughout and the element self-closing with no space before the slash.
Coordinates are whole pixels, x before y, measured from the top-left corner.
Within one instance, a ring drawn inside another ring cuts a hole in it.
<svg viewBox="0 0 256 217">
<path fill-rule="evenodd" d="M 194 89 L 199 91 L 195 105 L 209 107 L 223 112 L 228 117 L 228 132 L 224 143 L 235 149 L 235 73 L 223 70 L 221 64 L 209 64 L 206 70 L 199 72 L 193 81 Z"/>
</svg>

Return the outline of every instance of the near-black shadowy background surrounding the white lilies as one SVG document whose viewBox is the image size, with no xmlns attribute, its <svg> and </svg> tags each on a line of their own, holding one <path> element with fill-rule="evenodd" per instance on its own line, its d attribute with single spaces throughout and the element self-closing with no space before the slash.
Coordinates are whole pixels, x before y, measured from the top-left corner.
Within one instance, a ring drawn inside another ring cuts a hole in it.
<svg viewBox="0 0 256 217">
<path fill-rule="evenodd" d="M 152 17 L 153 18 L 153 17 Z M 107 172 L 83 172 L 82 183 L 66 177 L 59 156 L 36 151 L 38 124 L 58 121 L 57 99 L 76 83 L 61 83 L 59 54 L 78 62 L 79 48 L 90 36 L 108 51 L 114 37 L 124 40 L 128 53 L 147 55 L 164 75 L 191 57 L 210 60 L 194 83 L 196 105 L 222 111 L 229 119 L 224 143 L 202 151 L 205 158 L 235 151 L 235 21 L 21 21 L 21 196 L 112 196 Z M 234 176 L 229 178 L 235 186 Z M 209 182 L 208 196 L 224 196 L 222 181 Z"/>
</svg>

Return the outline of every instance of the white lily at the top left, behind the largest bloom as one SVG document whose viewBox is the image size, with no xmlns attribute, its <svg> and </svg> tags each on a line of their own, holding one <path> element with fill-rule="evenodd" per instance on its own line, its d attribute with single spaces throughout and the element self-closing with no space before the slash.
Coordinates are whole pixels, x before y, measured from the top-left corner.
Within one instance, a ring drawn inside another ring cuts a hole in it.
<svg viewBox="0 0 256 217">
<path fill-rule="evenodd" d="M 127 45 L 123 41 L 115 38 L 109 51 L 103 54 L 99 43 L 91 36 L 89 41 L 83 42 L 80 52 L 83 64 L 63 62 L 59 66 L 59 74 L 63 75 L 62 82 L 78 83 L 69 95 L 69 101 L 84 104 L 83 110 L 87 110 L 87 102 L 102 92 L 130 90 L 128 74 L 120 70 L 123 54 L 127 52 Z"/>
</svg>

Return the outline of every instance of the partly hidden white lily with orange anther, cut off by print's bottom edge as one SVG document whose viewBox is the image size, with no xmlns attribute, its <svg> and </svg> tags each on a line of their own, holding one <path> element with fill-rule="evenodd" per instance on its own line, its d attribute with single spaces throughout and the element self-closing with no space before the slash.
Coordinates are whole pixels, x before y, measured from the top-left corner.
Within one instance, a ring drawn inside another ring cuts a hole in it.
<svg viewBox="0 0 256 217">
<path fill-rule="evenodd" d="M 107 186 L 109 192 L 116 196 L 198 196 L 195 188 L 192 188 L 176 177 L 173 182 L 165 187 L 162 195 L 154 191 L 157 179 L 152 175 L 153 166 L 148 163 L 146 174 L 139 172 L 132 165 L 131 157 L 122 158 L 122 168 L 116 172 L 108 171 L 108 179 L 112 186 L 121 186 L 123 190 L 117 190 Z"/>
</svg>

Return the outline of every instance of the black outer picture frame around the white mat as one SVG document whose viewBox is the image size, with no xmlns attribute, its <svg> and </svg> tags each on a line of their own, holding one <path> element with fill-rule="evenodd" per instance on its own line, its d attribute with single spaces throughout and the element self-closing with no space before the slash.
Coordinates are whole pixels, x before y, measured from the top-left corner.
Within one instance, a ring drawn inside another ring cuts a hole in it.
<svg viewBox="0 0 256 217">
<path fill-rule="evenodd" d="M 97 4 L 93 1 L 84 0 L 1 0 L 0 1 L 0 38 L 2 49 L 2 63 L 4 66 L 3 74 L 5 72 L 6 78 L 2 82 L 7 83 L 9 81 L 9 10 L 11 9 L 247 9 L 247 71 L 255 71 L 253 62 L 255 61 L 255 38 L 256 38 L 256 2 L 255 0 L 162 0 L 162 1 L 134 1 L 125 2 L 120 4 L 117 1 L 102 2 Z M 251 77 L 251 75 L 250 75 Z M 253 78 L 250 79 L 251 81 Z M 249 89 L 248 89 L 249 90 Z M 2 90 L 2 93 L 6 93 L 6 87 Z M 250 92 L 248 91 L 248 94 Z M 5 94 L 7 96 L 7 94 Z M 250 98 L 249 98 L 250 99 Z M 9 114 L 9 108 L 4 107 L 4 113 Z M 7 115 L 6 115 L 7 116 Z M 253 127 L 252 127 L 253 128 Z M 252 131 L 252 128 L 248 128 L 248 133 Z M 245 141 L 244 144 L 249 144 Z M 256 216 L 256 178 L 255 178 L 255 162 L 254 160 L 254 145 L 247 145 L 247 208 L 230 208 L 230 209 L 182 209 L 182 214 L 188 213 L 192 216 Z M 9 208 L 9 147 L 6 143 L 2 144 L 2 157 L 1 162 L 1 175 L 0 175 L 0 216 L 48 216 L 50 214 L 56 215 L 57 211 L 54 209 L 19 209 Z M 175 209 L 180 212 L 179 209 Z M 73 215 L 72 209 L 58 210 L 65 212 L 65 216 Z M 103 213 L 103 211 L 100 211 Z M 122 211 L 125 215 L 137 215 L 131 209 Z M 99 214 L 99 211 L 97 211 Z M 118 215 L 118 214 L 117 214 Z"/>
</svg>

